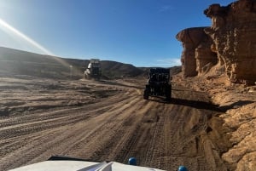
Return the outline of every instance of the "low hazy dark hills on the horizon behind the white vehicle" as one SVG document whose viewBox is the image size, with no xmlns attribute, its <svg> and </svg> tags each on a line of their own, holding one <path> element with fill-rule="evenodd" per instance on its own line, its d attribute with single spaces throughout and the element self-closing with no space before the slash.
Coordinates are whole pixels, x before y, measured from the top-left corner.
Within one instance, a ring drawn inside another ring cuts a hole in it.
<svg viewBox="0 0 256 171">
<path fill-rule="evenodd" d="M 82 78 L 89 62 L 90 60 L 66 59 L 0 47 L 0 76 Z M 110 60 L 102 60 L 101 64 L 105 78 L 143 77 L 148 74 L 147 68 L 138 68 L 131 64 Z"/>
</svg>

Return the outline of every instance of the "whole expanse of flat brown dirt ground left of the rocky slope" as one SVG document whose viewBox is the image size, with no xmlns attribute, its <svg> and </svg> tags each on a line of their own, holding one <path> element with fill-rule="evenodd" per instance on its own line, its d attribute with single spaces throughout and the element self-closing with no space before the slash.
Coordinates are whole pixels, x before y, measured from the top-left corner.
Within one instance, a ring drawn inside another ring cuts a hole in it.
<svg viewBox="0 0 256 171">
<path fill-rule="evenodd" d="M 173 86 L 143 100 L 143 84 L 1 78 L 0 170 L 53 155 L 177 170 L 227 170 L 230 145 L 207 95 Z"/>
</svg>

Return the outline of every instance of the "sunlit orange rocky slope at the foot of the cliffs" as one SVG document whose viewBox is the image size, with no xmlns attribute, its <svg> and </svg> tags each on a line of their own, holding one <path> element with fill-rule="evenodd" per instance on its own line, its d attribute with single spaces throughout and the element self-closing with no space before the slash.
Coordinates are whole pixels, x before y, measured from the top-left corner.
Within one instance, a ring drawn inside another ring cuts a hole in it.
<svg viewBox="0 0 256 171">
<path fill-rule="evenodd" d="M 218 66 L 201 77 L 183 78 L 179 74 L 174 80 L 184 87 L 205 92 L 224 111 L 219 117 L 229 129 L 232 146 L 222 158 L 232 165 L 232 170 L 256 170 L 256 84 L 232 84 L 224 73 L 218 72 Z"/>
</svg>

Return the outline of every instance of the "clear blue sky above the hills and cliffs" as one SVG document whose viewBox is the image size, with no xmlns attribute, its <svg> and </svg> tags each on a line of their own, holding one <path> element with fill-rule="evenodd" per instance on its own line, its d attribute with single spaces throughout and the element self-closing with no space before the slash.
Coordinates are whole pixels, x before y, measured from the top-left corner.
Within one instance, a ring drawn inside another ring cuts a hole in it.
<svg viewBox="0 0 256 171">
<path fill-rule="evenodd" d="M 211 20 L 203 10 L 212 3 L 225 6 L 232 2 L 0 0 L 0 46 L 46 54 L 33 45 L 38 43 L 65 58 L 99 58 L 134 66 L 179 66 L 182 45 L 175 38 L 177 32 L 210 26 Z"/>
</svg>

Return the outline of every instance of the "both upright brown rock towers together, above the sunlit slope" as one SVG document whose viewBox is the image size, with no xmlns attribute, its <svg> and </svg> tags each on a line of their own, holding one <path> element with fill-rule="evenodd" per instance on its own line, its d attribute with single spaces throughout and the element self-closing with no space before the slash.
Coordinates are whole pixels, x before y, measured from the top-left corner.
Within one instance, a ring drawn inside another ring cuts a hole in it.
<svg viewBox="0 0 256 171">
<path fill-rule="evenodd" d="M 211 27 L 189 28 L 177 34 L 184 48 L 184 77 L 205 72 L 205 66 L 213 66 L 218 58 L 231 83 L 253 85 L 256 82 L 256 0 L 239 0 L 225 7 L 212 4 L 204 14 L 212 19 Z"/>
</svg>

